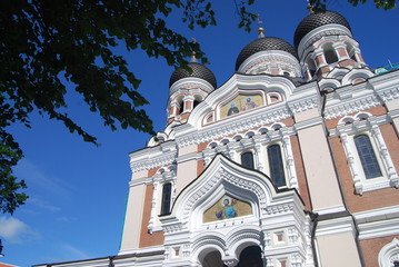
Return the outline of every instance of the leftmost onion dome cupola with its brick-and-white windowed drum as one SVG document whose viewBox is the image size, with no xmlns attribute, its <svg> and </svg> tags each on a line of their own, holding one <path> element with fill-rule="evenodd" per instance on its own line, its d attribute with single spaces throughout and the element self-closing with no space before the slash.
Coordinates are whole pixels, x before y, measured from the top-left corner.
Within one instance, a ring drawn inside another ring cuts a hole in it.
<svg viewBox="0 0 399 267">
<path fill-rule="evenodd" d="M 169 80 L 168 123 L 184 122 L 192 109 L 217 88 L 213 72 L 198 63 L 192 52 L 187 70 L 179 68 Z"/>
</svg>

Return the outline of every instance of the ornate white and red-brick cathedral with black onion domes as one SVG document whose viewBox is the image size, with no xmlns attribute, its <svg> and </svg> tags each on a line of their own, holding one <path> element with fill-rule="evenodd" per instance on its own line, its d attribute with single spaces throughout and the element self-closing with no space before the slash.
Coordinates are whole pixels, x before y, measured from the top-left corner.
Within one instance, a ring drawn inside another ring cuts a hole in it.
<svg viewBox="0 0 399 267">
<path fill-rule="evenodd" d="M 346 18 L 310 12 L 293 46 L 259 28 L 222 85 L 188 66 L 130 154 L 118 255 L 37 267 L 399 266 L 399 70 Z"/>
</svg>

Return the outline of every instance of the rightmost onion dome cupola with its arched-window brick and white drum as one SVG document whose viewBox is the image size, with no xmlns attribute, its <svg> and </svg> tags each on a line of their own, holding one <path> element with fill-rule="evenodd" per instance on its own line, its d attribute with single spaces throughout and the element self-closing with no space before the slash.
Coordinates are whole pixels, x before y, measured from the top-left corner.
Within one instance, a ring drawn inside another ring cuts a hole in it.
<svg viewBox="0 0 399 267">
<path fill-rule="evenodd" d="M 349 22 L 338 12 L 310 13 L 298 24 L 293 44 L 307 80 L 323 76 L 335 67 L 363 68 L 359 43 Z"/>
</svg>

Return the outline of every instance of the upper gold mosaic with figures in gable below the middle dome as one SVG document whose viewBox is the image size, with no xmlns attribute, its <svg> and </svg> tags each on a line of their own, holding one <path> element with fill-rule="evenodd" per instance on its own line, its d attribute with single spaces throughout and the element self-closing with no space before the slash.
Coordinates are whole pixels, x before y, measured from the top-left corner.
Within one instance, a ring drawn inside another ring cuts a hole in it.
<svg viewBox="0 0 399 267">
<path fill-rule="evenodd" d="M 220 118 L 229 117 L 260 106 L 263 106 L 263 100 L 260 95 L 238 95 L 235 99 L 220 108 Z"/>
</svg>

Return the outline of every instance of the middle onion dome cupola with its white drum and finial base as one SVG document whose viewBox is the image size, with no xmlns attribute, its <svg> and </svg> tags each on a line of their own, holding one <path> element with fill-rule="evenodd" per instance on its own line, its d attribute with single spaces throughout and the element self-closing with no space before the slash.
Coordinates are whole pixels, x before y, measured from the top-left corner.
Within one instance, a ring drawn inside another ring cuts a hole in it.
<svg viewBox="0 0 399 267">
<path fill-rule="evenodd" d="M 248 75 L 301 77 L 298 56 L 287 41 L 265 37 L 259 28 L 259 38 L 248 43 L 238 55 L 236 71 Z"/>
</svg>

